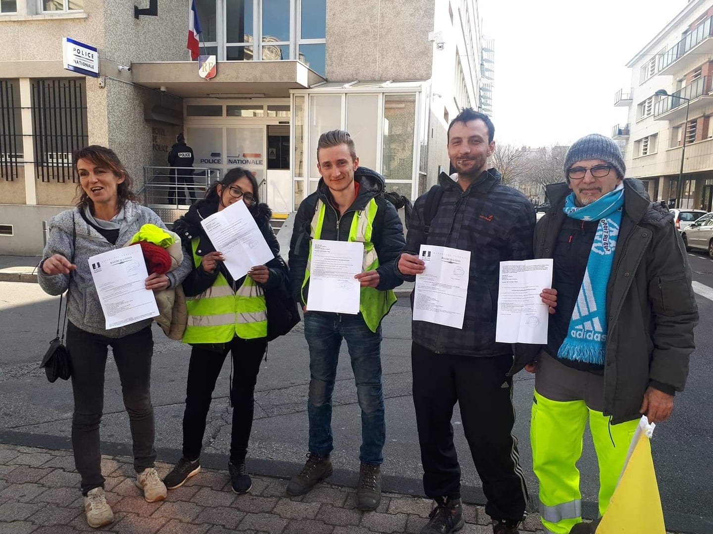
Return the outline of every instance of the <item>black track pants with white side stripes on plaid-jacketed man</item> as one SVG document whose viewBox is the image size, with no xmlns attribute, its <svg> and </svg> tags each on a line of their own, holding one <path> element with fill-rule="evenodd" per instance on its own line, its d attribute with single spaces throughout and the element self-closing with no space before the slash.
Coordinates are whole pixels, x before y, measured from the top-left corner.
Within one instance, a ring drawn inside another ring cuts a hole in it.
<svg viewBox="0 0 713 534">
<path fill-rule="evenodd" d="M 411 345 L 414 407 L 424 466 L 424 491 L 431 498 L 461 496 L 461 467 L 453 445 L 453 406 L 461 409 L 463 431 L 483 481 L 486 513 L 520 520 L 528 501 L 519 464 L 513 379 L 509 355 L 441 355 Z"/>
</svg>

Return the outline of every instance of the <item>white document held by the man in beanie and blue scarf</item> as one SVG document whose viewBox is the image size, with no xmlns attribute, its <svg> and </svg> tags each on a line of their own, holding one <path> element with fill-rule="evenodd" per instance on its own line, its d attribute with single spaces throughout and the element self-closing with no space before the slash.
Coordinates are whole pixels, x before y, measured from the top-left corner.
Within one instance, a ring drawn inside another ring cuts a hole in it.
<svg viewBox="0 0 713 534">
<path fill-rule="evenodd" d="M 552 268 L 551 258 L 500 262 L 497 342 L 547 343 L 548 305 L 540 293 L 552 287 Z"/>
</svg>

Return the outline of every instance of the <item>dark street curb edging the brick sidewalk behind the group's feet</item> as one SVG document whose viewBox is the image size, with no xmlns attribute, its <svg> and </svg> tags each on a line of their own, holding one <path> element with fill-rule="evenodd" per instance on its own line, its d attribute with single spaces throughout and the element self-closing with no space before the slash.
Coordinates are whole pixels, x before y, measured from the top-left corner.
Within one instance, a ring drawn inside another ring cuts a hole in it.
<svg viewBox="0 0 713 534">
<path fill-rule="evenodd" d="M 0 443 L 8 445 L 21 445 L 38 447 L 41 449 L 64 449 L 71 451 L 71 438 L 53 436 L 50 434 L 31 434 L 29 432 L 16 432 L 0 430 Z M 130 444 L 116 443 L 115 441 L 101 441 L 101 452 L 109 456 L 132 456 Z M 179 449 L 157 447 L 158 460 L 175 463 L 180 459 L 182 452 Z M 298 473 L 303 464 L 289 461 L 266 460 L 248 457 L 245 461 L 248 471 L 256 476 L 271 476 L 287 480 L 289 473 Z M 227 469 L 227 454 L 203 453 L 200 455 L 200 464 L 211 469 Z M 334 469 L 327 482 L 335 486 L 356 488 L 356 479 L 359 473 L 348 469 Z M 402 493 L 414 497 L 426 498 L 423 492 L 421 479 L 406 478 L 402 476 L 384 475 L 381 482 L 382 491 L 386 493 Z M 463 502 L 484 506 L 486 497 L 480 486 L 462 486 L 461 497 Z M 528 512 L 538 509 L 537 496 L 530 496 Z M 582 515 L 586 519 L 598 517 L 597 503 L 593 501 L 582 502 Z M 666 530 L 677 533 L 713 534 L 713 516 L 687 515 L 682 513 L 667 512 L 664 514 Z"/>
</svg>

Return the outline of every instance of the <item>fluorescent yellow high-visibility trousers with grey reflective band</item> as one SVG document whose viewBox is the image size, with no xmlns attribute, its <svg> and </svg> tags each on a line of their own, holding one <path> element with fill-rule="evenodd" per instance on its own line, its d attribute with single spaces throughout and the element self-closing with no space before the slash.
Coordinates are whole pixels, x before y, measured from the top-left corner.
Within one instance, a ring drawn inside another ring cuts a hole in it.
<svg viewBox="0 0 713 534">
<path fill-rule="evenodd" d="M 582 494 L 577 461 L 582 455 L 585 424 L 594 439 L 599 464 L 599 515 L 617 486 L 638 419 L 609 424 L 609 417 L 583 400 L 553 401 L 535 390 L 530 422 L 533 471 L 540 482 L 540 517 L 545 533 L 569 534 L 582 521 Z"/>
</svg>

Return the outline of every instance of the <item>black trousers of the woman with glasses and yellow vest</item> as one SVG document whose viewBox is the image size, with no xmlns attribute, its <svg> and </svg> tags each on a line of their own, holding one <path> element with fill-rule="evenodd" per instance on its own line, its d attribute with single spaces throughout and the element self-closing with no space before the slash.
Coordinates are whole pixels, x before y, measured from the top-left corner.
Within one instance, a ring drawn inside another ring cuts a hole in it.
<svg viewBox="0 0 713 534">
<path fill-rule="evenodd" d="M 197 459 L 203 445 L 205 421 L 210 409 L 213 389 L 227 353 L 232 356 L 232 434 L 230 436 L 230 461 L 240 464 L 247 454 L 247 441 L 252 429 L 252 414 L 255 406 L 255 384 L 260 372 L 260 361 L 265 355 L 265 337 L 243 340 L 234 337 L 225 343 L 222 351 L 216 352 L 196 345 L 190 352 L 188 364 L 188 387 L 186 388 L 185 412 L 183 412 L 183 456 Z"/>
</svg>

